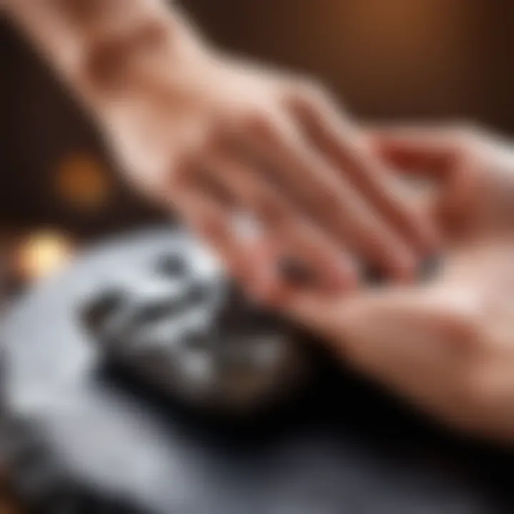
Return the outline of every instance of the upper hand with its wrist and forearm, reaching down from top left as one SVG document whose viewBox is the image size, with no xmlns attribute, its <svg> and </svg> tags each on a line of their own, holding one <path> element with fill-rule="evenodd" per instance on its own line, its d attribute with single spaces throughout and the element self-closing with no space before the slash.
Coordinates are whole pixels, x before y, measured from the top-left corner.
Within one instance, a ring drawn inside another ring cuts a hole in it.
<svg viewBox="0 0 514 514">
<path fill-rule="evenodd" d="M 436 246 L 316 81 L 224 54 L 159 0 L 4 5 L 94 113 L 128 180 L 178 211 L 233 275 L 280 289 L 253 258 L 273 246 L 341 291 L 358 285 L 356 258 L 408 281 Z M 234 229 L 239 215 L 257 222 L 258 241 Z"/>
</svg>

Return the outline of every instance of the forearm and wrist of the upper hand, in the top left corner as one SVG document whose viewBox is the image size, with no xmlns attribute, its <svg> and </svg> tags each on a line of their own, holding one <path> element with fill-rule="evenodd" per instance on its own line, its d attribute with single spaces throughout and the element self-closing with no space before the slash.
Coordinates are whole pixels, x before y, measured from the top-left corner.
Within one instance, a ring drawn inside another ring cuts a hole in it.
<svg viewBox="0 0 514 514">
<path fill-rule="evenodd" d="M 172 74 L 203 44 L 162 0 L 4 0 L 6 11 L 96 109 Z M 177 66 L 178 67 L 178 66 Z"/>
</svg>

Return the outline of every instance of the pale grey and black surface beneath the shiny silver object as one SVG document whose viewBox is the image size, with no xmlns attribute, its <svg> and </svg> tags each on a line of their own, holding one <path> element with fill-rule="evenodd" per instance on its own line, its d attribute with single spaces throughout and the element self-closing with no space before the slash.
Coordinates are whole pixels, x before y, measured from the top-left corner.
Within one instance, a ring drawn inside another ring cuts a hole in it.
<svg viewBox="0 0 514 514">
<path fill-rule="evenodd" d="M 84 294 L 172 242 L 156 229 L 99 246 L 8 316 L 1 446 L 36 510 L 60 512 L 59 490 L 70 513 L 514 511 L 512 455 L 444 433 L 330 366 L 301 398 L 241 425 L 106 372 L 77 323 Z"/>
</svg>

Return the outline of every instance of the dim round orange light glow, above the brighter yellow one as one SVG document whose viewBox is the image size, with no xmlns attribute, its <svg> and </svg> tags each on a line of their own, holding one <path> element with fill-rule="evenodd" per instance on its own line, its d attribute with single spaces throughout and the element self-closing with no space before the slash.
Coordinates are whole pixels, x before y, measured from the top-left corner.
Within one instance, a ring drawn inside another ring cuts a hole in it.
<svg viewBox="0 0 514 514">
<path fill-rule="evenodd" d="M 59 163 L 56 188 L 59 198 L 83 211 L 104 207 L 112 189 L 106 167 L 88 153 L 66 156 Z"/>
</svg>

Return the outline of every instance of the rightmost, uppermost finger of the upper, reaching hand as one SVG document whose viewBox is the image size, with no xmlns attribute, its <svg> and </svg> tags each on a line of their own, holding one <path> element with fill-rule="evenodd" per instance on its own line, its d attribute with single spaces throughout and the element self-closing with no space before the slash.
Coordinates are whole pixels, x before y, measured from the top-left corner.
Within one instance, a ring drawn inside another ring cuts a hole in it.
<svg viewBox="0 0 514 514">
<path fill-rule="evenodd" d="M 366 138 L 339 116 L 341 109 L 323 94 L 297 93 L 291 109 L 318 151 L 351 179 L 361 195 L 423 254 L 437 246 L 435 228 L 413 208 L 388 166 L 369 151 Z"/>
</svg>

